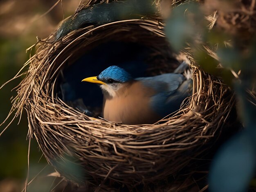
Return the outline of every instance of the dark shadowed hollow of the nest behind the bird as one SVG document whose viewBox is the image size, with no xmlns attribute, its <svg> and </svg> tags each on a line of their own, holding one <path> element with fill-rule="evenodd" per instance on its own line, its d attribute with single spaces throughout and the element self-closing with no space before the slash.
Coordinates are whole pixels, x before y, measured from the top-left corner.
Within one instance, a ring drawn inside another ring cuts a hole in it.
<svg viewBox="0 0 256 192">
<path fill-rule="evenodd" d="M 183 60 L 177 59 L 165 37 L 142 30 L 146 31 L 146 36 L 121 31 L 113 33 L 107 41 L 98 39 L 71 51 L 70 55 L 75 56 L 67 60 L 68 65 L 57 77 L 58 97 L 88 116 L 99 117 L 103 103 L 101 89 L 95 84 L 81 83 L 83 78 L 97 76 L 111 65 L 124 68 L 133 78 L 173 72 Z"/>
</svg>

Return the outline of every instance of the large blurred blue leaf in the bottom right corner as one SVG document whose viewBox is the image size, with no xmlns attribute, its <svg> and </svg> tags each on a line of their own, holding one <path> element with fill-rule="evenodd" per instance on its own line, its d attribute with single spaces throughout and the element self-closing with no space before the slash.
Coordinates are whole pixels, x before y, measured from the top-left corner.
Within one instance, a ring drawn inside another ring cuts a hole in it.
<svg viewBox="0 0 256 192">
<path fill-rule="evenodd" d="M 216 154 L 209 172 L 209 191 L 245 192 L 255 168 L 254 143 L 245 130 L 231 138 Z"/>
</svg>

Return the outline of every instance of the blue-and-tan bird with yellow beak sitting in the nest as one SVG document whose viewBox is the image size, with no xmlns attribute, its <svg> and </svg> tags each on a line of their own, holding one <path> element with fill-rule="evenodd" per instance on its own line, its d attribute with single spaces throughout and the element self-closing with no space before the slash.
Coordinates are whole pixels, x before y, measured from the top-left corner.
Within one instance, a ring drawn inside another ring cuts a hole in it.
<svg viewBox="0 0 256 192">
<path fill-rule="evenodd" d="M 103 92 L 104 119 L 128 125 L 156 123 L 180 109 L 192 94 L 192 79 L 183 74 L 132 78 L 117 65 L 82 81 L 99 84 Z"/>
</svg>

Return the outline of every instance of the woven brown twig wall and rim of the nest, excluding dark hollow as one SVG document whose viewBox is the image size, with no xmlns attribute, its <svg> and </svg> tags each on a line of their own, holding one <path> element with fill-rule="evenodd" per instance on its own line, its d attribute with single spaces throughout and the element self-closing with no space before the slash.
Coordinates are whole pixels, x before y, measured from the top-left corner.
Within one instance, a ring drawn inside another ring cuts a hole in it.
<svg viewBox="0 0 256 192">
<path fill-rule="evenodd" d="M 36 138 L 49 164 L 69 181 L 117 182 L 132 188 L 159 183 L 184 169 L 189 172 L 186 167 L 211 151 L 222 128 L 232 121 L 235 100 L 229 88 L 202 71 L 191 54 L 174 54 L 163 29 L 160 18 L 148 17 L 90 25 L 59 40 L 54 33 L 38 42 L 36 55 L 25 65 L 29 69 L 17 88 L 13 110 L 16 115 L 26 110 L 29 136 Z M 61 95 L 63 73 L 83 54 L 113 41 L 146 47 L 147 75 L 171 72 L 184 60 L 190 63 L 193 95 L 178 112 L 153 125 L 111 123 L 72 107 L 74 103 Z M 68 171 L 67 161 L 79 166 L 81 174 Z"/>
</svg>

